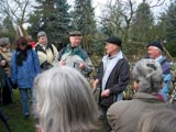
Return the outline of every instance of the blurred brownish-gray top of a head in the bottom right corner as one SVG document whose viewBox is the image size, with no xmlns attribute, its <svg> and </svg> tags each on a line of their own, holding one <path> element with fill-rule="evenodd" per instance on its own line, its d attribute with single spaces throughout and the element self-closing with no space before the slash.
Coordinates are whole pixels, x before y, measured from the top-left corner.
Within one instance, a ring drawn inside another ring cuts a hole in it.
<svg viewBox="0 0 176 132">
<path fill-rule="evenodd" d="M 176 132 L 176 112 L 170 109 L 146 112 L 139 120 L 139 132 Z"/>
</svg>

